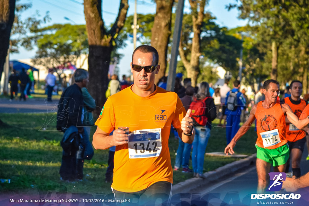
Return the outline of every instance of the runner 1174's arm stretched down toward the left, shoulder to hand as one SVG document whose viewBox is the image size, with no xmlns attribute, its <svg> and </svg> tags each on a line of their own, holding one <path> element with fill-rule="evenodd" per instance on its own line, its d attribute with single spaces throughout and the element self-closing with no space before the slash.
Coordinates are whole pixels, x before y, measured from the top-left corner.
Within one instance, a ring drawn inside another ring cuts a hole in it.
<svg viewBox="0 0 309 206">
<path fill-rule="evenodd" d="M 256 107 L 257 107 L 257 104 L 253 105 L 252 109 L 251 109 L 251 112 L 249 114 L 249 117 L 248 117 L 248 120 L 243 123 L 243 126 L 241 126 L 238 130 L 238 132 L 235 134 L 234 138 L 231 140 L 230 144 L 228 144 L 226 146 L 226 148 L 224 149 L 224 153 L 226 153 L 226 155 L 228 155 L 228 153 L 230 154 L 234 154 L 234 150 L 233 148 L 235 147 L 236 145 L 236 142 L 240 139 L 240 137 L 242 137 L 248 130 L 249 128 L 251 127 L 252 123 L 254 122 L 255 120 L 255 111 L 256 111 Z"/>
</svg>

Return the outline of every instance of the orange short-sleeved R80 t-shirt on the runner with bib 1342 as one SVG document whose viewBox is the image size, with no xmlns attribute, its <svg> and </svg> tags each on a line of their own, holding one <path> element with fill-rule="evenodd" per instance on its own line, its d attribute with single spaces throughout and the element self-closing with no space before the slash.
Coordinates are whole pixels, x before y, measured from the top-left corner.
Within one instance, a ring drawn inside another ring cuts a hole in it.
<svg viewBox="0 0 309 206">
<path fill-rule="evenodd" d="M 173 183 L 168 138 L 171 124 L 180 128 L 186 114 L 174 92 L 157 86 L 149 96 L 140 97 L 131 87 L 107 99 L 95 125 L 106 133 L 121 126 L 129 127 L 130 132 L 161 128 L 162 150 L 158 157 L 132 159 L 128 144 L 116 146 L 112 188 L 121 192 L 141 191 L 159 181 Z"/>
</svg>

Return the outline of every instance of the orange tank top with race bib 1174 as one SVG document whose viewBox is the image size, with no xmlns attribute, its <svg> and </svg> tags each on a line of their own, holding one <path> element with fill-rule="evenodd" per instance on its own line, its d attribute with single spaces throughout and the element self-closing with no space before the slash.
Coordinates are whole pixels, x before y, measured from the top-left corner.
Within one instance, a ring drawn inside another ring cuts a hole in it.
<svg viewBox="0 0 309 206">
<path fill-rule="evenodd" d="M 286 140 L 286 119 L 281 104 L 276 103 L 273 107 L 264 108 L 260 101 L 257 104 L 256 118 L 256 145 L 266 149 L 276 149 L 285 145 Z"/>
</svg>

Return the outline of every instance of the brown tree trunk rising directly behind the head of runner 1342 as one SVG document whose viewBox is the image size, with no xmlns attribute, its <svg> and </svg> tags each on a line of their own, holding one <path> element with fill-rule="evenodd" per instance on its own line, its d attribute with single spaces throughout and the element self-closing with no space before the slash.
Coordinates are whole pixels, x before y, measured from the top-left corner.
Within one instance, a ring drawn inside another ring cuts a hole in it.
<svg viewBox="0 0 309 206">
<path fill-rule="evenodd" d="M 174 0 L 157 0 L 154 26 L 151 29 L 151 46 L 159 53 L 159 73 L 155 76 L 157 84 L 166 71 L 167 47 L 171 36 L 171 16 Z"/>
</svg>

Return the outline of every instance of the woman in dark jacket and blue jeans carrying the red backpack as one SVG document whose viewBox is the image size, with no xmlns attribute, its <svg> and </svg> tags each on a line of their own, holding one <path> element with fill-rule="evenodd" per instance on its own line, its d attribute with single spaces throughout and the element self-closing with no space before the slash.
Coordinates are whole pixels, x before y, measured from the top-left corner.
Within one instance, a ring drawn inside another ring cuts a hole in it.
<svg viewBox="0 0 309 206">
<path fill-rule="evenodd" d="M 206 177 L 203 174 L 205 150 L 210 137 L 211 121 L 216 118 L 216 106 L 214 104 L 214 99 L 210 96 L 209 84 L 207 82 L 201 82 L 195 99 L 205 99 L 205 115 L 207 117 L 207 122 L 205 125 L 197 125 L 194 127 L 195 138 L 192 150 L 193 175 L 194 177 L 205 179 Z"/>
</svg>

